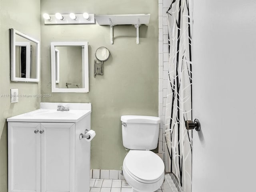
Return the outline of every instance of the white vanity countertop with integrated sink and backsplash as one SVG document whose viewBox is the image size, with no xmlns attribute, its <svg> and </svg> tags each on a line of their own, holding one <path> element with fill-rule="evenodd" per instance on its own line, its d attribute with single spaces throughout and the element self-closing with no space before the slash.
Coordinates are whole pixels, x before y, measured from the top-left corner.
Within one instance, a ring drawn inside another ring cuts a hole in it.
<svg viewBox="0 0 256 192">
<path fill-rule="evenodd" d="M 54 106 L 52 106 L 51 104 L 54 104 Z M 41 109 L 8 118 L 7 121 L 8 122 L 9 121 L 10 122 L 78 122 L 81 118 L 84 118 L 86 115 L 91 113 L 91 105 L 88 103 L 86 103 L 84 107 L 83 107 L 83 104 L 78 105 L 77 103 L 75 105 L 72 105 L 72 103 L 68 103 L 68 105 L 70 106 L 70 111 L 57 111 L 55 108 L 55 106 L 57 106 L 57 103 L 50 103 L 49 106 L 46 106 L 45 103 L 43 103 L 41 105 Z"/>
</svg>

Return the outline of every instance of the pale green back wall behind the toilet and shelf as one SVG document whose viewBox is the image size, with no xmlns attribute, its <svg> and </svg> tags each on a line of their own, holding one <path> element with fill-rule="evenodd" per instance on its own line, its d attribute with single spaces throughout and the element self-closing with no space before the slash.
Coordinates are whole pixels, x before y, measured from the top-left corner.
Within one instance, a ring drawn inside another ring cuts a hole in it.
<svg viewBox="0 0 256 192">
<path fill-rule="evenodd" d="M 41 93 L 52 94 L 42 102 L 91 102 L 91 168 L 121 169 L 126 150 L 122 145 L 120 116 L 158 116 L 158 0 L 41 0 L 43 13 L 147 14 L 150 23 L 140 26 L 140 44 L 132 25 L 44 25 L 41 19 Z M 90 92 L 51 93 L 50 42 L 88 41 Z M 93 76 L 94 53 L 100 46 L 110 50 L 104 76 Z"/>
</svg>

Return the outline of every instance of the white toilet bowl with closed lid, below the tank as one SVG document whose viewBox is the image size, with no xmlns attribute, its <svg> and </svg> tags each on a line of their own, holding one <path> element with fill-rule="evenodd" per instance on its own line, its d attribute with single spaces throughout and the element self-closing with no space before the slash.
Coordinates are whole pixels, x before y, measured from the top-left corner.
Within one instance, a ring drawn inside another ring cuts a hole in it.
<svg viewBox="0 0 256 192">
<path fill-rule="evenodd" d="M 164 181 L 164 162 L 152 151 L 130 150 L 124 158 L 123 173 L 133 192 L 154 192 Z"/>
</svg>

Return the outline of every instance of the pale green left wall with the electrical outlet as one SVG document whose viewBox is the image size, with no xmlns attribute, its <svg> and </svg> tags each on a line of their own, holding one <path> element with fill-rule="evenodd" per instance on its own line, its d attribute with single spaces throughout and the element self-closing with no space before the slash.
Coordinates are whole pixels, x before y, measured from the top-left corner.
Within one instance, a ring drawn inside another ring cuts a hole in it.
<svg viewBox="0 0 256 192">
<path fill-rule="evenodd" d="M 14 28 L 40 40 L 40 0 L 0 0 L 0 94 L 39 94 L 40 83 L 10 82 L 10 32 Z M 10 97 L 0 97 L 0 192 L 7 192 L 7 124 L 6 118 L 39 107 L 40 98 L 19 98 L 11 104 Z"/>
</svg>

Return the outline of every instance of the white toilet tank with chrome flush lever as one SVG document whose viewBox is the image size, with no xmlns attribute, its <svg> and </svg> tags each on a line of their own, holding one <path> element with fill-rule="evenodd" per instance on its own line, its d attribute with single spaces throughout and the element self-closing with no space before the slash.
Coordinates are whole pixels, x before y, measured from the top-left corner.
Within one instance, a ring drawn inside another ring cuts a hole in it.
<svg viewBox="0 0 256 192">
<path fill-rule="evenodd" d="M 157 147 L 161 119 L 154 116 L 124 115 L 122 138 L 125 148 L 152 150 Z"/>
</svg>

